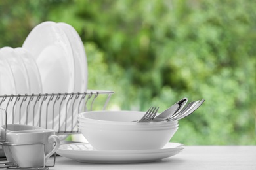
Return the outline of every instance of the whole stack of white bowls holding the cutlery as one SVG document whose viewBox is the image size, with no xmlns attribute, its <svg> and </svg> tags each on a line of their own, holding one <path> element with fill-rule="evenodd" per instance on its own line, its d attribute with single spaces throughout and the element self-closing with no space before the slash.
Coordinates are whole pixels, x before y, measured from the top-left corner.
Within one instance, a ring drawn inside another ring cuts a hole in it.
<svg viewBox="0 0 256 170">
<path fill-rule="evenodd" d="M 138 116 L 137 116 L 138 114 Z M 78 128 L 96 150 L 148 150 L 165 146 L 177 122 L 132 122 L 144 112 L 98 111 L 79 114 Z"/>
</svg>

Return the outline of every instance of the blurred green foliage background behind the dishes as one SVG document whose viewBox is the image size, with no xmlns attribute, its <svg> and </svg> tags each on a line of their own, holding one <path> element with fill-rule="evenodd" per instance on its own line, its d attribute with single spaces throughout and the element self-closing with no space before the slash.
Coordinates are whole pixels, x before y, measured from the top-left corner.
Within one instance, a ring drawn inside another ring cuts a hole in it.
<svg viewBox="0 0 256 170">
<path fill-rule="evenodd" d="M 108 110 L 205 99 L 171 141 L 256 144 L 256 1 L 0 0 L 0 48 L 47 20 L 77 30 Z"/>
</svg>

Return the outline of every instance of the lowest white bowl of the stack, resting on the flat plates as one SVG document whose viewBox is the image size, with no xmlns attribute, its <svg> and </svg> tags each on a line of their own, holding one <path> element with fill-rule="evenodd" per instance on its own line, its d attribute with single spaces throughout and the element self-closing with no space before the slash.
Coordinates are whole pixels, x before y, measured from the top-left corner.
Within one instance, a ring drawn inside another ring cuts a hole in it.
<svg viewBox="0 0 256 170">
<path fill-rule="evenodd" d="M 178 127 L 169 129 L 129 130 L 92 127 L 79 128 L 85 139 L 96 150 L 148 150 L 160 149 L 167 144 Z"/>
</svg>

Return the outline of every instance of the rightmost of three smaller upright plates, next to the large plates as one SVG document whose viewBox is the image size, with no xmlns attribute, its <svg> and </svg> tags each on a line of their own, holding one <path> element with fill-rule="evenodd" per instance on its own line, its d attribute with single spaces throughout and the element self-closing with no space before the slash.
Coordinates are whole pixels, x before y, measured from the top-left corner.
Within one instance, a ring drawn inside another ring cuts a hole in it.
<svg viewBox="0 0 256 170">
<path fill-rule="evenodd" d="M 41 76 L 32 54 L 30 54 L 28 50 L 20 47 L 14 48 L 14 52 L 16 53 L 16 56 L 22 59 L 26 67 L 26 71 L 28 73 L 28 80 L 30 83 L 30 93 L 31 94 L 42 93 Z M 36 103 L 36 99 L 33 99 L 32 101 L 30 101 L 30 105 L 29 105 L 30 107 L 28 107 L 27 112 L 22 114 L 22 117 L 21 117 L 22 124 L 33 125 L 33 118 L 34 116 L 38 116 L 38 111 L 39 111 L 39 105 L 35 105 L 35 103 Z M 35 118 L 35 119 L 37 120 L 38 118 Z"/>
</svg>

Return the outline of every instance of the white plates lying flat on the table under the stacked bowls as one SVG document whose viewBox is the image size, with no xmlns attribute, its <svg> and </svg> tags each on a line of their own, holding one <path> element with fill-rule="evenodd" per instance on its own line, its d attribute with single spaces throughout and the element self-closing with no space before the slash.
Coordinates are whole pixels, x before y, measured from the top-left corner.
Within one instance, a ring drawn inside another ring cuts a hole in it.
<svg viewBox="0 0 256 170">
<path fill-rule="evenodd" d="M 89 143 L 73 143 L 61 145 L 57 154 L 85 163 L 142 163 L 174 156 L 183 149 L 183 144 L 167 143 L 157 150 L 95 150 Z"/>
</svg>

